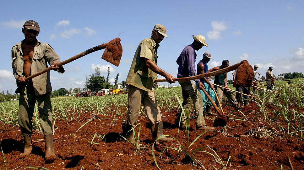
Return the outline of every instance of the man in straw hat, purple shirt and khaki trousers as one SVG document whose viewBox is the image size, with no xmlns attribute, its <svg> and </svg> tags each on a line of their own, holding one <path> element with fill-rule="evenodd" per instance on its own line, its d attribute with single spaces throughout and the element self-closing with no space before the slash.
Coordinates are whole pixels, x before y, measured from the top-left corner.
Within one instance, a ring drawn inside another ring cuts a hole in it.
<svg viewBox="0 0 304 170">
<path fill-rule="evenodd" d="M 203 46 L 208 46 L 208 44 L 205 42 L 206 38 L 202 35 L 194 36 L 193 37 L 193 43 L 186 46 L 182 53 L 179 55 L 179 57 L 176 60 L 176 63 L 178 64 L 178 70 L 177 70 L 177 78 L 183 78 L 183 77 L 190 77 L 190 76 L 196 76 L 196 70 L 195 70 L 195 59 L 197 54 L 195 53 L 195 50 L 201 49 Z M 178 82 L 182 87 L 182 97 L 184 99 L 182 103 L 183 109 L 185 111 L 189 111 L 189 108 L 191 107 L 190 99 L 193 101 L 194 104 L 194 110 L 195 110 L 195 116 L 196 116 L 196 129 L 197 130 L 213 130 L 213 127 L 209 127 L 205 123 L 204 115 L 203 115 L 203 99 L 201 94 L 199 93 L 197 88 L 204 88 L 204 84 L 199 80 L 194 80 L 195 84 L 193 84 L 191 81 L 182 81 Z M 187 117 L 187 113 L 185 113 Z M 181 118 L 182 117 L 182 118 Z M 181 124 L 179 124 L 181 119 Z M 175 119 L 175 125 L 182 126 L 182 128 L 186 127 L 185 124 L 185 117 L 182 115 L 182 109 Z"/>
</svg>

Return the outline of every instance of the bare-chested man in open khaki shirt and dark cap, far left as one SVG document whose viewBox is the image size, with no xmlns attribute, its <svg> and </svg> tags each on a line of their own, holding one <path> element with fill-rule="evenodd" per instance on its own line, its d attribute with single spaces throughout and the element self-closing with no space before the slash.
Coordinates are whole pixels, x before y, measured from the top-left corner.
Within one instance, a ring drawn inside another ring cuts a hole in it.
<svg viewBox="0 0 304 170">
<path fill-rule="evenodd" d="M 38 102 L 38 112 L 44 133 L 46 147 L 46 161 L 53 161 L 56 155 L 53 147 L 52 105 L 50 72 L 43 73 L 29 81 L 24 78 L 47 68 L 47 63 L 53 70 L 64 73 L 64 68 L 56 64 L 60 62 L 54 49 L 46 43 L 36 39 L 40 27 L 33 20 L 26 21 L 22 32 L 24 40 L 12 48 L 12 68 L 17 82 L 17 90 L 20 93 L 18 123 L 24 137 L 24 153 L 19 157 L 24 158 L 32 152 L 32 117 L 35 103 Z"/>
</svg>

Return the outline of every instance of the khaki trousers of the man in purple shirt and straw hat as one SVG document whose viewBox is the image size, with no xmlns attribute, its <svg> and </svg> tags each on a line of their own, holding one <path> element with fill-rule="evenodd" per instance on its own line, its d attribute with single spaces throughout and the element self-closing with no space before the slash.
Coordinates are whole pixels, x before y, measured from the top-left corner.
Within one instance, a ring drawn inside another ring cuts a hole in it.
<svg viewBox="0 0 304 170">
<path fill-rule="evenodd" d="M 191 107 L 191 101 L 193 101 L 194 104 L 194 112 L 196 118 L 196 127 L 204 126 L 206 125 L 205 119 L 203 116 L 203 99 L 201 94 L 199 93 L 198 89 L 196 88 L 195 84 L 193 84 L 191 81 L 185 81 L 185 82 L 178 82 L 182 87 L 182 97 L 184 99 L 182 103 L 183 109 L 185 109 L 186 112 L 189 112 L 189 108 Z M 185 113 L 186 118 L 187 114 Z M 175 123 L 179 123 L 180 116 L 182 116 L 182 124 L 185 124 L 185 118 L 182 115 L 182 110 L 180 111 L 179 115 L 175 119 Z"/>
</svg>

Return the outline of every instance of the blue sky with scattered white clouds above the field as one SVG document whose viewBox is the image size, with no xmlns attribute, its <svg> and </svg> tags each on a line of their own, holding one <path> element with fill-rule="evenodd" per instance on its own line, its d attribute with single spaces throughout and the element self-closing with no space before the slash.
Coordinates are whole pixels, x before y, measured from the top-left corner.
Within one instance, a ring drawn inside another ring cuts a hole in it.
<svg viewBox="0 0 304 170">
<path fill-rule="evenodd" d="M 65 65 L 64 74 L 52 71 L 53 90 L 83 88 L 85 76 L 96 66 L 105 76 L 110 66 L 111 81 L 117 73 L 118 82 L 125 81 L 139 42 L 150 37 L 155 24 L 164 25 L 168 35 L 158 49 L 158 66 L 174 77 L 176 58 L 198 34 L 209 47 L 197 51 L 197 62 L 209 51 L 214 57 L 209 68 L 224 59 L 231 65 L 247 59 L 259 65 L 262 75 L 269 66 L 275 75 L 304 72 L 303 6 L 304 1 L 3 1 L 0 91 L 16 88 L 11 48 L 24 39 L 21 28 L 29 19 L 40 25 L 37 39 L 49 43 L 61 61 L 115 37 L 122 39 L 119 67 L 101 59 L 103 50 L 91 53 Z"/>
</svg>

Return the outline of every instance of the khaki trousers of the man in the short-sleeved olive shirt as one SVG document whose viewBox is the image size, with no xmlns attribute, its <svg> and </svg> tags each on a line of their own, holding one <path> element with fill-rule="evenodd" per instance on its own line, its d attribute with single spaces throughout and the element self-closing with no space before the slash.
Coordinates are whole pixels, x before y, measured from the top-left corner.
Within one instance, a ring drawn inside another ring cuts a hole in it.
<svg viewBox="0 0 304 170">
<path fill-rule="evenodd" d="M 151 92 L 144 91 L 140 88 L 129 85 L 128 93 L 128 113 L 126 117 L 126 125 L 136 125 L 141 103 L 144 106 L 146 115 L 150 124 L 160 123 L 160 108 L 155 96 L 154 88 Z"/>
</svg>

